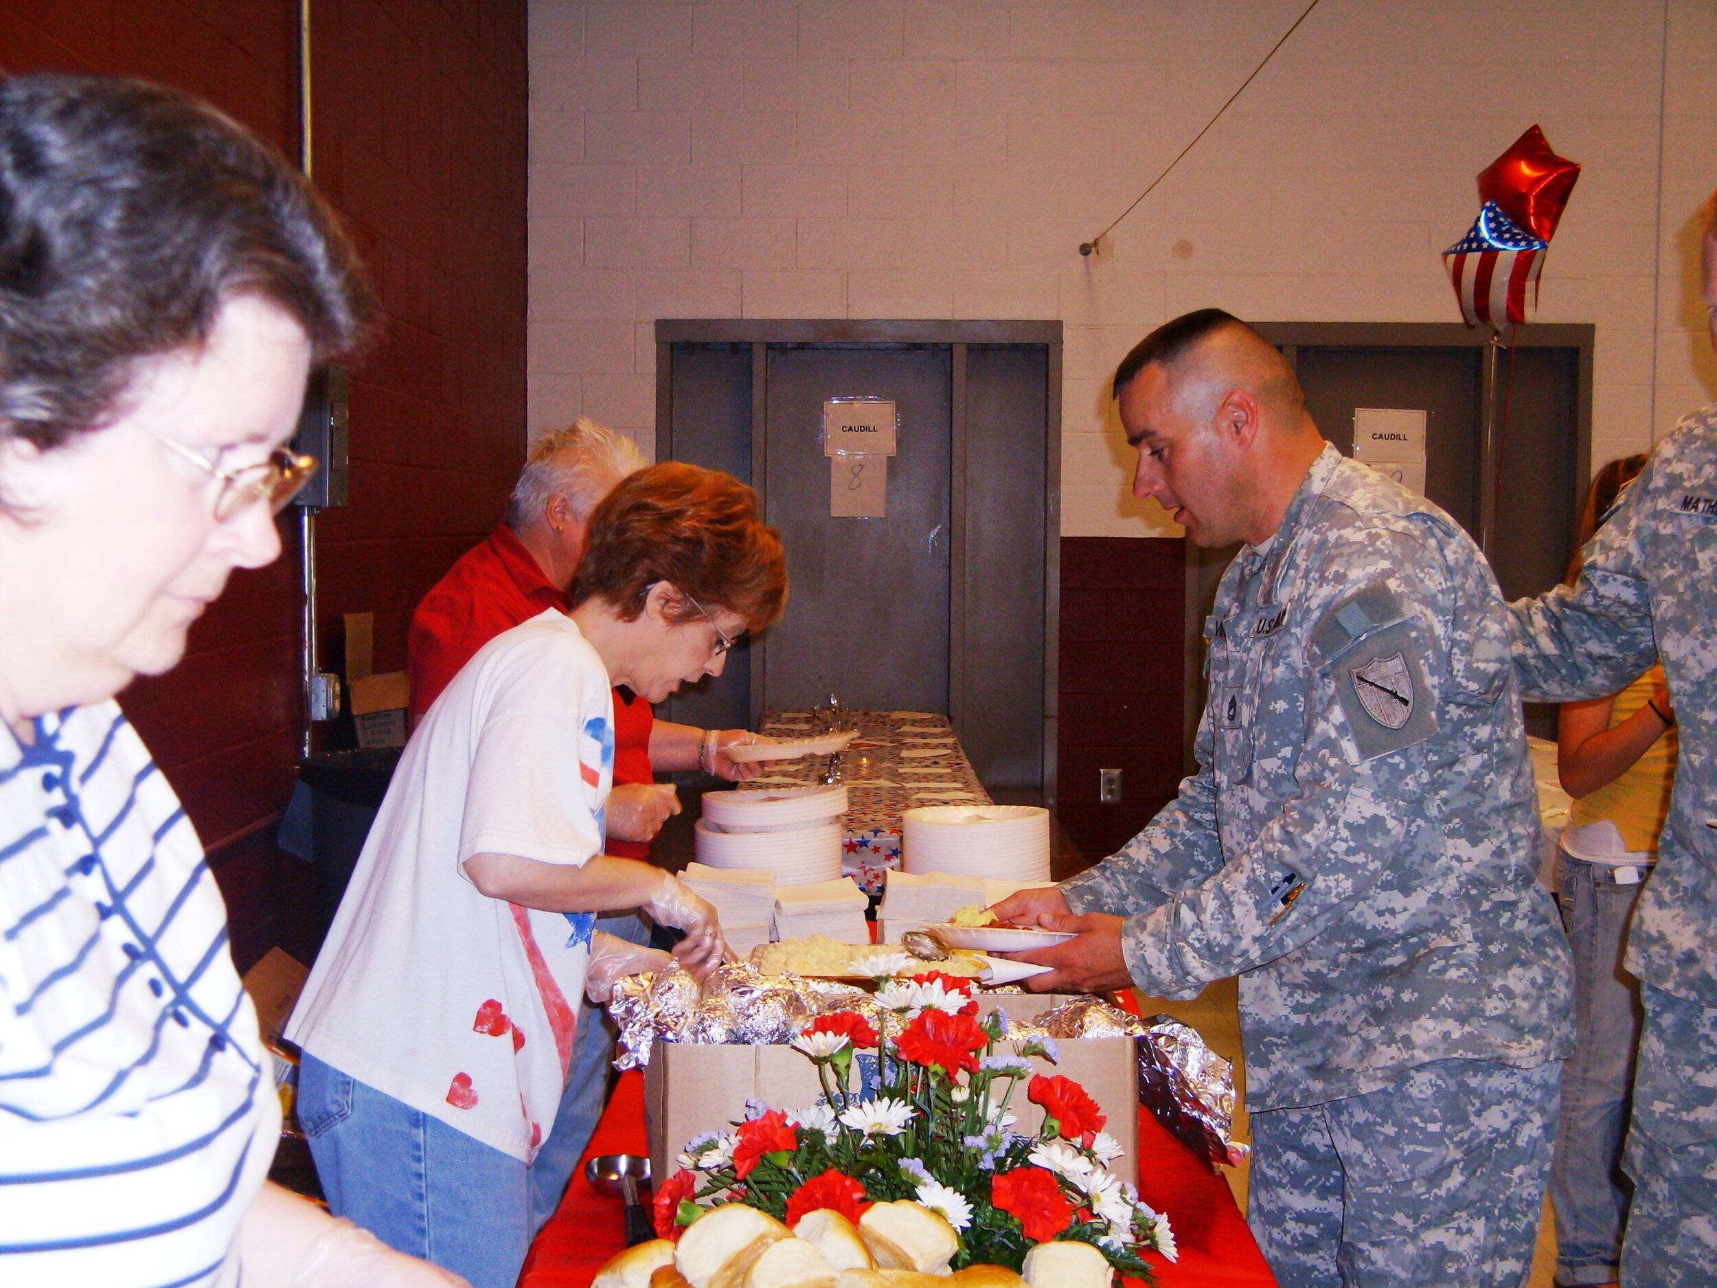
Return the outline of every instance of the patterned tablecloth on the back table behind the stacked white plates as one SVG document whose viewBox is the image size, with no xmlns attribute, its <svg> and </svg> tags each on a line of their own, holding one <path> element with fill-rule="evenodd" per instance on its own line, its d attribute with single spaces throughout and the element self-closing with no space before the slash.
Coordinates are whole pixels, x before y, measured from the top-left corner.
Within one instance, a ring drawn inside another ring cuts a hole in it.
<svg viewBox="0 0 1717 1288">
<path fill-rule="evenodd" d="M 846 817 L 841 869 L 867 895 L 883 893 L 883 874 L 900 867 L 900 819 L 917 805 L 987 805 L 989 792 L 960 749 L 948 716 L 929 711 L 848 711 L 857 726 L 841 754 Z M 771 738 L 809 738 L 819 732 L 809 711 L 764 711 L 757 728 Z M 826 756 L 774 761 L 740 787 L 810 787 L 822 781 Z"/>
</svg>

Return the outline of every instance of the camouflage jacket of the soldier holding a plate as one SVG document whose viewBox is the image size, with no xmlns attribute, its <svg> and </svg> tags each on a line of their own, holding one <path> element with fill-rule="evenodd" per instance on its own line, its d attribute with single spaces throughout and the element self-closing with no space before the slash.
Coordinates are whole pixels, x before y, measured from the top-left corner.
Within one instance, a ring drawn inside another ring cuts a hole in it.
<svg viewBox="0 0 1717 1288">
<path fill-rule="evenodd" d="M 1198 771 L 1061 886 L 1075 912 L 1132 914 L 1138 987 L 1240 975 L 1253 1109 L 1564 1054 L 1568 945 L 1533 879 L 1508 613 L 1471 539 L 1326 447 L 1205 635 Z"/>
</svg>

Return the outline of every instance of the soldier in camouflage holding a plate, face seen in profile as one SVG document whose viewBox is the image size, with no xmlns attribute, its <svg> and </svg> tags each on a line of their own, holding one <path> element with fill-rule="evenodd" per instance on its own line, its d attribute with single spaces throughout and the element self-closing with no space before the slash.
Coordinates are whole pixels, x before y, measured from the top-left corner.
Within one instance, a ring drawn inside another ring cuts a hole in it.
<svg viewBox="0 0 1717 1288">
<path fill-rule="evenodd" d="M 1284 1288 L 1521 1283 L 1573 986 L 1496 579 L 1324 443 L 1228 314 L 1168 323 L 1114 385 L 1133 489 L 1198 544 L 1248 543 L 1205 627 L 1198 771 L 998 912 L 1082 931 L 1032 955 L 1059 967 L 1034 987 L 1240 975 L 1248 1221 Z"/>
</svg>

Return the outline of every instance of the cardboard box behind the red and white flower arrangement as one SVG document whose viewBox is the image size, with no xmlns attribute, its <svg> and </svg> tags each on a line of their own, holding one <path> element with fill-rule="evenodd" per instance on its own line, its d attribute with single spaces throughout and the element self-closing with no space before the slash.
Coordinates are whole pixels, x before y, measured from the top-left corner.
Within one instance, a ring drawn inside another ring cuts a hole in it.
<svg viewBox="0 0 1717 1288">
<path fill-rule="evenodd" d="M 982 998 L 982 1010 L 1003 1010 L 1010 1020 L 1028 1020 L 1051 1006 L 1073 1001 L 1056 993 L 1003 993 Z M 1042 1073 L 1063 1073 L 1078 1082 L 1102 1106 L 1104 1130 L 1121 1145 L 1111 1171 L 1138 1182 L 1138 1063 L 1132 1037 L 1059 1039 L 1061 1063 L 1035 1058 Z M 1011 1049 L 1011 1048 L 1008 1048 Z M 764 1101 L 771 1109 L 814 1104 L 822 1089 L 816 1066 L 790 1046 L 706 1046 L 656 1042 L 644 1072 L 644 1121 L 649 1132 L 652 1176 L 671 1176 L 675 1157 L 699 1132 L 730 1130 L 745 1118 L 745 1101 Z M 1016 1132 L 1035 1132 L 1044 1111 L 1015 1092 L 1008 1111 L 1018 1115 Z"/>
</svg>

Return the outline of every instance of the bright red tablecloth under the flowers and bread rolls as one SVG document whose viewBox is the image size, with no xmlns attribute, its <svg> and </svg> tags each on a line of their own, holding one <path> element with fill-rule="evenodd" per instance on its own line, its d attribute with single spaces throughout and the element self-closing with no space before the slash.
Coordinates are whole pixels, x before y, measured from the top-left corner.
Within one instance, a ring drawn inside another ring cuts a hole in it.
<svg viewBox="0 0 1717 1288">
<path fill-rule="evenodd" d="M 644 1077 L 627 1073 L 591 1139 L 589 1156 L 647 1152 Z M 1168 1212 L 1180 1245 L 1178 1264 L 1150 1259 L 1164 1288 L 1274 1288 L 1276 1279 L 1235 1207 L 1228 1182 L 1198 1163 L 1149 1111 L 1138 1116 L 1138 1194 L 1159 1212 Z M 585 1288 L 603 1262 L 625 1245 L 622 1224 L 620 1199 L 596 1194 L 580 1166 L 560 1211 L 531 1245 L 519 1288 Z"/>
</svg>

